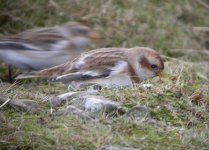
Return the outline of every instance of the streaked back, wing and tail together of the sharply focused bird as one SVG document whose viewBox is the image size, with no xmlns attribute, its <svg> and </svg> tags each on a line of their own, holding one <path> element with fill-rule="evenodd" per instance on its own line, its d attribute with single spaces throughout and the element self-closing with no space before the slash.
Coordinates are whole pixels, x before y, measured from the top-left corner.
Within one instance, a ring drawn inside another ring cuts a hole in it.
<svg viewBox="0 0 209 150">
<path fill-rule="evenodd" d="M 101 48 L 89 51 L 74 59 L 72 62 L 67 62 L 52 68 L 41 71 L 30 72 L 30 75 L 39 77 L 55 77 L 74 73 L 73 77 L 84 78 L 109 76 L 117 73 L 117 67 L 126 63 L 126 58 L 123 54 L 125 48 Z M 122 63 L 123 62 L 123 63 Z"/>
</svg>

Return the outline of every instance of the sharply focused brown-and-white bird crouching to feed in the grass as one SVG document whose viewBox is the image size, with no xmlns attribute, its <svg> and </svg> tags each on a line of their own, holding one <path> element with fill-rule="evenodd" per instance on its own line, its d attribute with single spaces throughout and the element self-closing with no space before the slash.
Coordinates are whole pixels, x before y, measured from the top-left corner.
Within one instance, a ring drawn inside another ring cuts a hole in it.
<svg viewBox="0 0 209 150">
<path fill-rule="evenodd" d="M 71 62 L 31 72 L 29 77 L 53 77 L 56 82 L 76 88 L 85 84 L 133 87 L 135 83 L 161 76 L 163 70 L 160 54 L 149 47 L 100 48 L 82 53 Z"/>
</svg>

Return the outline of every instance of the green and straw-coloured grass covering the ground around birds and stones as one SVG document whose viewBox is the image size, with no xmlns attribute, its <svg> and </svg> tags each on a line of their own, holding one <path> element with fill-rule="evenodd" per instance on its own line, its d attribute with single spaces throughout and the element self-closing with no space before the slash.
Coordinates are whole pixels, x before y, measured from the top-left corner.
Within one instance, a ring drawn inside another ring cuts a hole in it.
<svg viewBox="0 0 209 150">
<path fill-rule="evenodd" d="M 169 59 L 165 76 L 144 83 L 154 88 L 102 89 L 103 95 L 123 103 L 149 108 L 163 125 L 136 124 L 122 117 L 99 114 L 99 123 L 76 116 L 52 117 L 44 104 L 49 95 L 66 92 L 60 84 L 42 82 L 1 83 L 0 93 L 17 99 L 37 100 L 44 112 L 29 114 L 1 108 L 0 147 L 7 149 L 98 149 L 102 145 L 141 149 L 208 149 L 209 57 L 204 41 L 192 27 L 209 26 L 208 10 L 198 1 L 161 0 L 7 0 L 0 1 L 0 32 L 14 34 L 27 28 L 79 21 L 101 32 L 105 39 L 93 47 L 149 46 Z M 10 10 L 8 12 L 8 10 Z M 200 44 L 201 43 L 201 44 Z M 176 52 L 182 49 L 184 53 Z M 192 49 L 195 53 L 187 52 Z M 5 65 L 1 65 L 1 77 Z"/>
</svg>

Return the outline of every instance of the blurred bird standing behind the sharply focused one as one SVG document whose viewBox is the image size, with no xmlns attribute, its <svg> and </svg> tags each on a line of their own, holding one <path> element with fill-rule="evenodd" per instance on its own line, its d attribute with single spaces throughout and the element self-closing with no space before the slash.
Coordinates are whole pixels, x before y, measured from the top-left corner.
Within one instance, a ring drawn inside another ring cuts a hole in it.
<svg viewBox="0 0 209 150">
<path fill-rule="evenodd" d="M 26 30 L 0 40 L 0 60 L 26 71 L 53 67 L 77 57 L 97 32 L 81 24 Z"/>
</svg>

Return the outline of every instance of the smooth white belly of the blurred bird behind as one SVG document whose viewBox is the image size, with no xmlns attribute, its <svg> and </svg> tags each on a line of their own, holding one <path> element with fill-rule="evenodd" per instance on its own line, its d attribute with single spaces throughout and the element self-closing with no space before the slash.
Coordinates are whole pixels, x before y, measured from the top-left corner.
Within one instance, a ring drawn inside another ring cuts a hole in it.
<svg viewBox="0 0 209 150">
<path fill-rule="evenodd" d="M 30 55 L 28 55 L 30 53 Z M 59 56 L 59 59 L 57 59 Z M 48 68 L 67 62 L 69 56 L 65 53 L 60 55 L 59 51 L 12 51 L 0 50 L 0 60 L 7 64 L 14 65 L 23 69 L 30 66 L 34 69 Z M 48 60 L 48 61 L 46 61 Z M 26 66 L 25 66 L 26 65 Z"/>
</svg>

